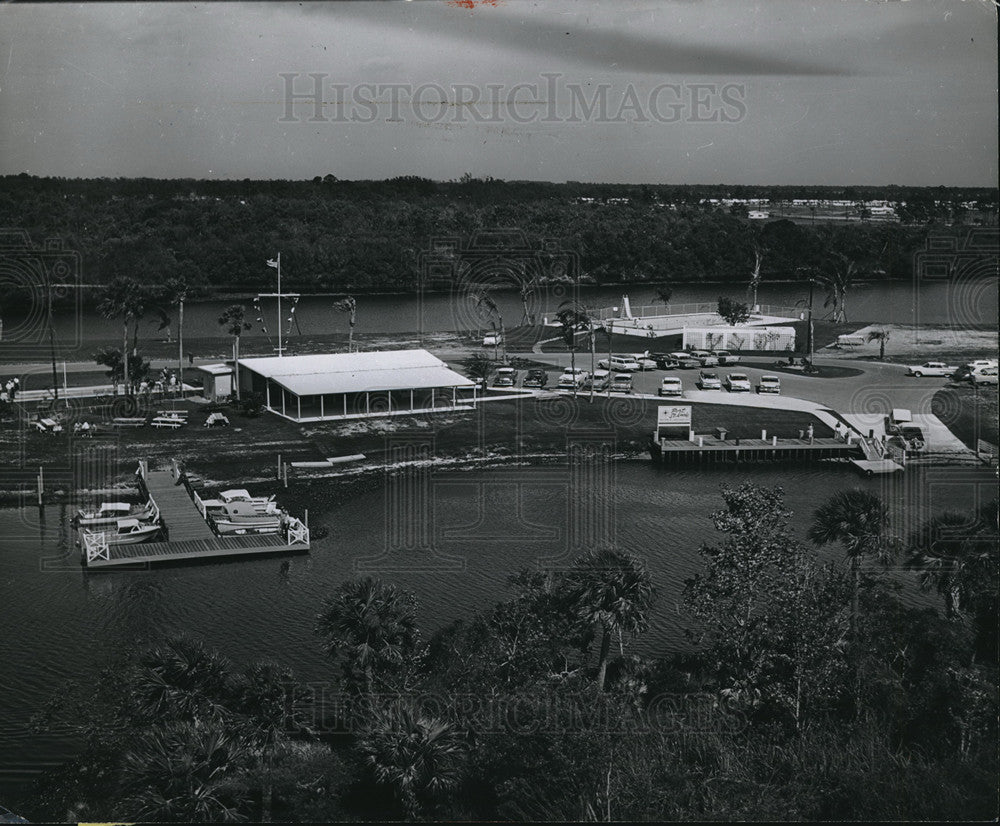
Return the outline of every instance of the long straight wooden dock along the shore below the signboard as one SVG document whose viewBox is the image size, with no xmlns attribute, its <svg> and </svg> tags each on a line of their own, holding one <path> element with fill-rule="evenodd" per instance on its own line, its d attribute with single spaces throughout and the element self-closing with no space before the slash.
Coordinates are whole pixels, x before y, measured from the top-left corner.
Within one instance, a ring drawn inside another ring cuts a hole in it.
<svg viewBox="0 0 1000 826">
<path fill-rule="evenodd" d="M 861 455 L 855 442 L 841 439 L 720 439 L 697 436 L 687 439 L 651 440 L 649 453 L 662 464 L 713 464 L 720 462 L 813 462 L 850 459 Z"/>
</svg>

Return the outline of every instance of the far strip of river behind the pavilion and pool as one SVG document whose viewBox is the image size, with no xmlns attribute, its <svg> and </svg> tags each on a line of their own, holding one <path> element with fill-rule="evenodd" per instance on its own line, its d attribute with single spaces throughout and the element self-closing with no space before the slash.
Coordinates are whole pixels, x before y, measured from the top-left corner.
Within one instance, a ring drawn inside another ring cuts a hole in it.
<svg viewBox="0 0 1000 826">
<path fill-rule="evenodd" d="M 643 304 L 654 304 L 655 292 L 652 288 L 631 286 L 628 288 L 583 288 L 580 299 L 593 307 L 608 307 L 618 305 L 622 292 L 627 292 L 633 307 Z M 707 286 L 680 286 L 676 289 L 672 303 L 714 303 L 720 294 L 745 298 L 746 284 L 731 285 L 714 284 Z M 799 300 L 808 296 L 808 288 L 791 285 L 765 284 L 758 296 L 762 304 L 794 306 Z M 516 292 L 498 292 L 494 296 L 503 314 L 504 324 L 509 326 L 521 323 L 523 309 Z M 541 320 L 543 316 L 550 318 L 555 315 L 561 302 L 569 294 L 562 288 L 540 290 L 529 301 L 529 312 Z M 274 299 L 265 304 L 265 323 L 273 337 L 276 331 L 276 306 Z M 188 303 L 184 309 L 184 335 L 186 338 L 220 335 L 217 319 L 222 310 L 232 301 L 207 301 Z M 252 304 L 249 300 L 241 302 L 252 315 Z M 329 298 L 303 298 L 296 310 L 298 327 L 292 328 L 294 335 L 299 331 L 304 336 L 326 333 L 346 333 L 348 330 L 347 316 L 332 309 Z M 821 317 L 823 309 L 823 294 L 817 290 L 814 307 L 816 317 Z M 946 284 L 940 282 L 896 282 L 870 285 L 857 285 L 851 289 L 847 298 L 849 319 L 861 321 L 878 320 L 884 323 L 899 324 L 993 324 L 997 317 L 996 282 L 983 279 L 975 283 L 961 282 Z M 288 318 L 288 306 L 283 307 L 283 313 Z M 42 316 L 36 314 L 33 323 L 42 324 Z M 256 316 L 249 319 L 254 329 L 248 335 L 262 335 Z M 176 319 L 175 319 L 176 322 Z M 14 329 L 13 321 L 8 322 L 9 330 Z M 30 323 L 29 323 L 30 326 Z M 96 313 L 86 313 L 82 318 L 76 318 L 72 313 L 63 311 L 57 319 L 57 333 L 61 343 L 70 344 L 79 338 L 81 342 L 93 341 L 119 336 L 121 325 L 109 321 Z M 439 293 L 428 295 L 421 300 L 417 296 L 364 296 L 358 299 L 358 333 L 403 333 L 422 330 L 427 333 L 451 330 L 469 330 L 489 326 L 482 318 L 477 318 L 474 300 L 467 294 L 449 295 Z M 141 331 L 143 337 L 162 340 L 164 332 L 157 330 L 158 323 L 153 321 L 144 325 Z M 176 332 L 176 329 L 174 330 Z M 294 336 L 293 336 L 294 337 Z"/>
</svg>

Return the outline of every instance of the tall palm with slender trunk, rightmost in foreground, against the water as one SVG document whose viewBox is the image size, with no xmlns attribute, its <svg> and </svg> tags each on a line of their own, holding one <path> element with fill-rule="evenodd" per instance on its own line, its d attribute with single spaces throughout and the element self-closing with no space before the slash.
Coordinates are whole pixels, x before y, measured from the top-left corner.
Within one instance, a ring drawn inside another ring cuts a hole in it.
<svg viewBox="0 0 1000 826">
<path fill-rule="evenodd" d="M 861 563 L 868 557 L 887 564 L 895 553 L 889 509 L 878 496 L 860 488 L 839 491 L 816 510 L 808 537 L 817 545 L 840 542 L 847 552 L 853 577 L 851 638 L 855 639 Z"/>
</svg>

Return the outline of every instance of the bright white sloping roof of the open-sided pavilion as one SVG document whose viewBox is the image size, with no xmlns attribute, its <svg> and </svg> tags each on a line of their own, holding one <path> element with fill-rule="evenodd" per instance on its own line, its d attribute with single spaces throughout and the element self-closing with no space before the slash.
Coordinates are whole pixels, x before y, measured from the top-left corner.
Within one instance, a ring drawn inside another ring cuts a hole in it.
<svg viewBox="0 0 1000 826">
<path fill-rule="evenodd" d="M 271 356 L 240 364 L 297 396 L 474 385 L 426 350 Z"/>
</svg>

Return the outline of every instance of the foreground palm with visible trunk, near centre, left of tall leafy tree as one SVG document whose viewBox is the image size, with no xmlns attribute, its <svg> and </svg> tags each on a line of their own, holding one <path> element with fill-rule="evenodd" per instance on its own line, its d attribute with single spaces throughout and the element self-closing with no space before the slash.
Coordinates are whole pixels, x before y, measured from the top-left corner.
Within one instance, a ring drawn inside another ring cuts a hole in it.
<svg viewBox="0 0 1000 826">
<path fill-rule="evenodd" d="M 611 636 L 646 630 L 655 591 L 643 562 L 631 554 L 602 549 L 581 556 L 567 572 L 565 587 L 579 617 L 603 631 L 597 690 L 604 690 Z"/>
</svg>

